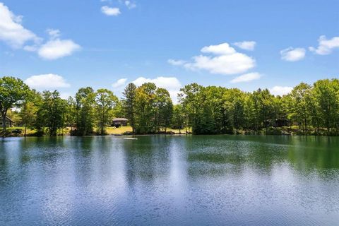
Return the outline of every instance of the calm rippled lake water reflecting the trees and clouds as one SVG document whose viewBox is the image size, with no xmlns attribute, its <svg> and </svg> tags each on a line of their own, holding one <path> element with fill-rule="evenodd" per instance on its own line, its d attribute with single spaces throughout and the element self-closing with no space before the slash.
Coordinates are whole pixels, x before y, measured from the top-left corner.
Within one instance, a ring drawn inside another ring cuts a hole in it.
<svg viewBox="0 0 339 226">
<path fill-rule="evenodd" d="M 339 225 L 339 138 L 4 138 L 0 202 L 0 225 Z"/>
</svg>

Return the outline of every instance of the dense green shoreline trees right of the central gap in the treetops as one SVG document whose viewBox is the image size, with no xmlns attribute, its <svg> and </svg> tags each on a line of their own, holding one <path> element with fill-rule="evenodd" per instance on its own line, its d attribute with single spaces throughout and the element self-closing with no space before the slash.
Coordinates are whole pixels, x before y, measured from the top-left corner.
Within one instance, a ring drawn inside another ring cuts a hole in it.
<svg viewBox="0 0 339 226">
<path fill-rule="evenodd" d="M 237 88 L 186 85 L 179 95 L 185 126 L 196 134 L 258 133 L 275 126 L 297 126 L 298 133 L 338 135 L 339 80 L 300 83 L 283 97 L 268 89 L 252 93 Z"/>
</svg>

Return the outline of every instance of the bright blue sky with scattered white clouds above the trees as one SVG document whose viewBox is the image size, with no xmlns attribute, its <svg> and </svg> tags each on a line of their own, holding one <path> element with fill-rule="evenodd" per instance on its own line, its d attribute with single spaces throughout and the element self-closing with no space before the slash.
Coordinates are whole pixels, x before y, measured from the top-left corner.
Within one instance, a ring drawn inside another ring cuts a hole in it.
<svg viewBox="0 0 339 226">
<path fill-rule="evenodd" d="M 192 82 L 283 94 L 339 77 L 338 8 L 338 0 L 0 0 L 0 75 L 64 96 L 88 85 L 121 96 L 131 81 L 173 96 Z"/>
</svg>

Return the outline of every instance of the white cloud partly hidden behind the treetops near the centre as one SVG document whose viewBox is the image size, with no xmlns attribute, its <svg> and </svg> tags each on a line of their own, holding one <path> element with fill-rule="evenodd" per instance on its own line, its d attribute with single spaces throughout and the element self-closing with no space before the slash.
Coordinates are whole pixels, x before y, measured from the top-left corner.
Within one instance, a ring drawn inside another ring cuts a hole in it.
<svg viewBox="0 0 339 226">
<path fill-rule="evenodd" d="M 182 84 L 179 80 L 175 77 L 157 77 L 157 78 L 144 78 L 139 77 L 136 80 L 132 81 L 135 85 L 139 86 L 143 83 L 155 83 L 157 87 L 165 88 L 168 90 L 169 94 L 171 95 L 172 101 L 177 102 L 177 94 L 179 93 Z"/>
</svg>

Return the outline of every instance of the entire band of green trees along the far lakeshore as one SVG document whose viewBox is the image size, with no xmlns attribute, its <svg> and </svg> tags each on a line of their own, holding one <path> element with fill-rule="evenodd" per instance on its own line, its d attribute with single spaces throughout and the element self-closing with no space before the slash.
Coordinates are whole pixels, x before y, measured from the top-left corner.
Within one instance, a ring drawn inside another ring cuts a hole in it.
<svg viewBox="0 0 339 226">
<path fill-rule="evenodd" d="M 86 87 L 64 100 L 57 90 L 32 90 L 19 78 L 0 78 L 3 131 L 6 116 L 34 128 L 36 135 L 57 136 L 68 127 L 71 135 L 103 135 L 114 117 L 126 117 L 133 133 L 166 133 L 167 128 L 194 134 L 277 133 L 339 134 L 339 80 L 300 83 L 288 95 L 268 89 L 243 92 L 237 88 L 184 86 L 174 105 L 169 92 L 154 83 L 129 83 L 119 98 L 111 90 Z M 283 128 L 283 130 L 282 130 Z"/>
</svg>

